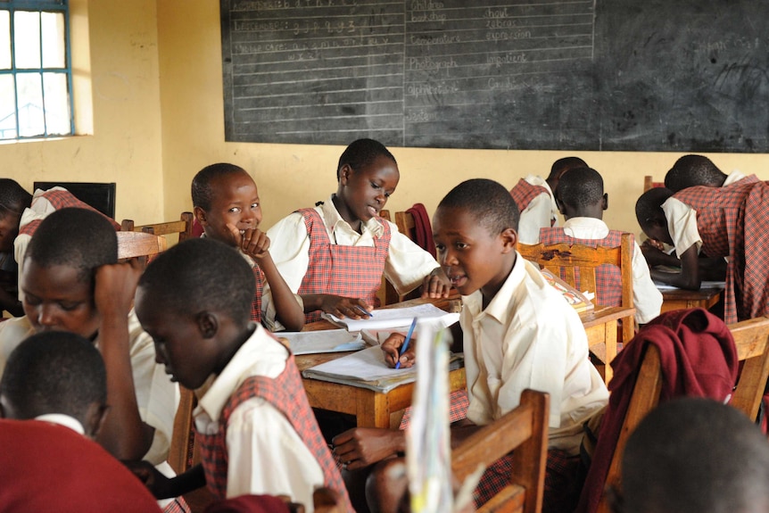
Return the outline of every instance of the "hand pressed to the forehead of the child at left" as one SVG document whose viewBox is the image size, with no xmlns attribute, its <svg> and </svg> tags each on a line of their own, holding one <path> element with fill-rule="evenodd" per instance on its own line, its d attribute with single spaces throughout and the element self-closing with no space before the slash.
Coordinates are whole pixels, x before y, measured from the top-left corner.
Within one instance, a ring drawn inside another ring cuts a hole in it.
<svg viewBox="0 0 769 513">
<path fill-rule="evenodd" d="M 106 317 L 110 314 L 128 319 L 134 301 L 136 284 L 142 275 L 138 259 L 126 263 L 105 265 L 96 269 L 94 302 L 96 310 Z"/>
</svg>

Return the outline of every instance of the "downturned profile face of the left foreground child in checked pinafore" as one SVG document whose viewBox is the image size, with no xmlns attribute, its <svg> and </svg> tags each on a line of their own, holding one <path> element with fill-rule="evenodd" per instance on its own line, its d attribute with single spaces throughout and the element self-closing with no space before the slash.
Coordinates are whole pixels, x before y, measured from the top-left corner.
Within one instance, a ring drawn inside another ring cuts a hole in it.
<svg viewBox="0 0 769 513">
<path fill-rule="evenodd" d="M 140 286 L 136 289 L 136 317 L 153 337 L 155 361 L 165 366 L 171 381 L 194 390 L 215 372 L 219 353 L 212 335 L 216 331 L 209 335 L 193 313 L 179 315 L 171 311 Z"/>
</svg>

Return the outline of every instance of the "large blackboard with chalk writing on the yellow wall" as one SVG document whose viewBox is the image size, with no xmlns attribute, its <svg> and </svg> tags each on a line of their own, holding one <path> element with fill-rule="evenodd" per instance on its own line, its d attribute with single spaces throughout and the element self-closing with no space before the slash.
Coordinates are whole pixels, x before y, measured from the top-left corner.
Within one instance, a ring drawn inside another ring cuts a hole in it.
<svg viewBox="0 0 769 513">
<path fill-rule="evenodd" d="M 221 0 L 227 141 L 769 151 L 769 0 Z"/>
</svg>

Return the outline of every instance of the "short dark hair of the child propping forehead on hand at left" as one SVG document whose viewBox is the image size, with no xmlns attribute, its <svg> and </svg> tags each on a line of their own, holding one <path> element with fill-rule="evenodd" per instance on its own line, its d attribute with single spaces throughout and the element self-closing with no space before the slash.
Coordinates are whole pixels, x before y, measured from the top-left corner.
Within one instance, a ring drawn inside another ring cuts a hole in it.
<svg viewBox="0 0 769 513">
<path fill-rule="evenodd" d="M 45 269 L 73 267 L 80 283 L 88 283 L 96 269 L 118 261 L 118 238 L 112 223 L 99 212 L 66 208 L 43 219 L 24 258 Z"/>
</svg>

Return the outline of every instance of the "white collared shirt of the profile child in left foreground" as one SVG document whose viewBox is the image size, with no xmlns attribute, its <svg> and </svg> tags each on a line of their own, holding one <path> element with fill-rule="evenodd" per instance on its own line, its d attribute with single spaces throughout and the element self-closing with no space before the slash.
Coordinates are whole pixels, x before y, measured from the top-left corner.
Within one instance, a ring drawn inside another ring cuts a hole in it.
<svg viewBox="0 0 769 513">
<path fill-rule="evenodd" d="M 264 327 L 238 349 L 232 360 L 200 396 L 195 428 L 203 434 L 219 430 L 219 418 L 230 396 L 251 376 L 275 378 L 285 369 L 288 352 Z M 288 495 L 312 511 L 312 492 L 325 479 L 318 460 L 285 416 L 258 397 L 241 403 L 227 425 L 227 497 L 244 494 Z"/>
</svg>

